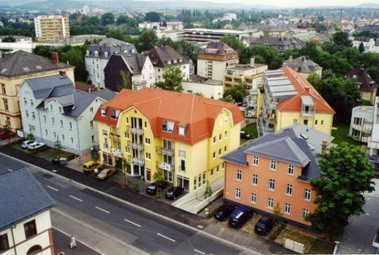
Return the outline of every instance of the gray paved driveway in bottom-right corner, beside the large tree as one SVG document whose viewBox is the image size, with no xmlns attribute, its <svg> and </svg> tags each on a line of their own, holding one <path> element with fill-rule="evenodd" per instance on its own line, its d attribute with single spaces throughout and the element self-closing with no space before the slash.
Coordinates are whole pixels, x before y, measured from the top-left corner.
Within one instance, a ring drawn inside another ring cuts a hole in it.
<svg viewBox="0 0 379 255">
<path fill-rule="evenodd" d="M 375 192 L 365 194 L 365 214 L 351 217 L 345 227 L 338 252 L 341 254 L 376 254 L 372 246 L 379 228 L 379 179 L 375 179 Z"/>
</svg>

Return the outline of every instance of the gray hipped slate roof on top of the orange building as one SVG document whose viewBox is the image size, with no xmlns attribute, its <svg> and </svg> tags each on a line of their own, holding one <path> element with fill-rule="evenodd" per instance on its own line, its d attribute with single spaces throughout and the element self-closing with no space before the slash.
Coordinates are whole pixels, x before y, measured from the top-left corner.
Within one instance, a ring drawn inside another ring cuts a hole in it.
<svg viewBox="0 0 379 255">
<path fill-rule="evenodd" d="M 316 159 L 320 156 L 322 140 L 327 140 L 330 144 L 333 137 L 308 128 L 304 124 L 296 124 L 250 141 L 221 159 L 238 165 L 247 165 L 246 154 L 252 153 L 269 159 L 302 165 L 303 172 L 298 179 L 308 181 L 320 176 Z"/>
</svg>

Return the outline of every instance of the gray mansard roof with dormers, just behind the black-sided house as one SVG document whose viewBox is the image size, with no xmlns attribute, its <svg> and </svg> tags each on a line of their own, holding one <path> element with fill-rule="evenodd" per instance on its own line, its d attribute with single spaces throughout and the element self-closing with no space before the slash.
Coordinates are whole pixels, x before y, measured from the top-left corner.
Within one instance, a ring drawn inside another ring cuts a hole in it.
<svg viewBox="0 0 379 255">
<path fill-rule="evenodd" d="M 99 41 L 98 43 L 93 43 L 88 48 L 90 51 L 90 56 L 86 57 L 92 57 L 94 58 L 94 52 L 99 52 L 99 57 L 96 58 L 105 58 L 105 52 L 108 53 L 108 58 L 114 53 L 114 52 L 126 52 L 126 53 L 137 53 L 136 47 L 132 43 L 127 43 L 125 41 L 117 40 L 114 38 L 107 38 L 103 41 Z"/>
</svg>

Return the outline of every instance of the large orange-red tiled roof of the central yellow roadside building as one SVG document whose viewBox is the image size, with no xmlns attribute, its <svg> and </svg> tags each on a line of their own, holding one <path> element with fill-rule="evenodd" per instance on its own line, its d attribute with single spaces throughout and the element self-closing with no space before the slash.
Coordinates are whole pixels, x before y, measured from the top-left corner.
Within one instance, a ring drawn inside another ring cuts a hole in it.
<svg viewBox="0 0 379 255">
<path fill-rule="evenodd" d="M 214 121 L 223 109 L 232 112 L 234 124 L 244 119 L 234 103 L 153 88 L 122 90 L 114 99 L 101 105 L 101 109 L 116 109 L 121 112 L 132 107 L 149 119 L 155 137 L 166 137 L 189 144 L 212 136 Z M 101 109 L 94 120 L 116 126 L 117 120 L 110 119 L 110 110 L 107 110 L 106 117 L 102 117 Z M 175 123 L 172 134 L 162 130 L 165 120 Z M 178 125 L 187 127 L 185 136 L 178 134 Z"/>
</svg>

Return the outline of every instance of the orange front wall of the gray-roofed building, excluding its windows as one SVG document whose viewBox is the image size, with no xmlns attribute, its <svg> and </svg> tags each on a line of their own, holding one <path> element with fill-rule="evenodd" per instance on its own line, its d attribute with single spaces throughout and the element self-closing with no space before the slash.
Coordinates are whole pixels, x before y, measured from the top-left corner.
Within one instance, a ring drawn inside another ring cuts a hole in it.
<svg viewBox="0 0 379 255">
<path fill-rule="evenodd" d="M 311 189 L 310 183 L 304 181 L 298 181 L 296 178 L 301 174 L 301 167 L 295 166 L 294 175 L 287 174 L 288 164 L 277 161 L 276 171 L 270 170 L 269 164 L 271 159 L 259 156 L 258 166 L 253 165 L 253 155 L 247 154 L 248 166 L 236 165 L 234 163 L 226 163 L 225 170 L 225 188 L 224 198 L 236 203 L 241 203 L 249 207 L 256 208 L 269 213 L 274 213 L 274 209 L 278 203 L 280 206 L 280 212 L 282 212 L 284 218 L 288 218 L 298 223 L 310 225 L 309 222 L 304 221 L 301 218 L 303 208 L 308 209 L 309 213 L 313 212 L 316 205 L 313 203 L 316 193 L 311 191 L 311 201 L 303 200 L 304 189 Z M 242 170 L 242 181 L 236 181 L 235 170 Z M 258 175 L 258 185 L 252 185 L 252 175 Z M 269 190 L 269 179 L 275 180 L 275 190 Z M 292 196 L 285 194 L 286 184 L 292 184 Z M 241 189 L 241 198 L 234 197 L 234 188 L 239 187 Z M 256 203 L 251 203 L 251 194 L 257 194 Z M 267 198 L 274 198 L 274 209 L 267 208 Z M 290 214 L 284 213 L 285 203 L 291 205 Z"/>
</svg>

